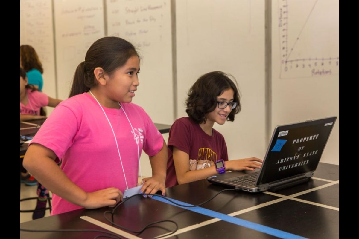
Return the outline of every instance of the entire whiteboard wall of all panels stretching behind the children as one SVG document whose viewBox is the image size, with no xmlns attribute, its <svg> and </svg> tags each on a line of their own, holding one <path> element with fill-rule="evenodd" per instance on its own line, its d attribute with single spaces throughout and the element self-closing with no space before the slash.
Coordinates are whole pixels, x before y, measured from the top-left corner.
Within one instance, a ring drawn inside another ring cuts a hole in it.
<svg viewBox="0 0 359 239">
<path fill-rule="evenodd" d="M 339 164 L 339 0 L 20 0 L 20 44 L 38 51 L 50 96 L 68 97 L 75 68 L 105 35 L 139 50 L 133 102 L 154 122 L 187 116 L 191 85 L 224 71 L 242 94 L 235 121 L 214 126 L 230 159 L 263 158 L 276 125 L 336 115 L 322 162 Z"/>
</svg>

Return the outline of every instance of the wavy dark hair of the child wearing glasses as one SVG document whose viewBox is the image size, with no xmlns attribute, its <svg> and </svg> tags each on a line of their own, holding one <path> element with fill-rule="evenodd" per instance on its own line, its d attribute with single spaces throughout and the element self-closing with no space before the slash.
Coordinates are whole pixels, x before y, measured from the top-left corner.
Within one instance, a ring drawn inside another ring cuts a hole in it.
<svg viewBox="0 0 359 239">
<path fill-rule="evenodd" d="M 217 96 L 225 90 L 232 89 L 234 92 L 233 102 L 237 102 L 228 115 L 227 121 L 234 121 L 234 115 L 241 111 L 240 92 L 234 82 L 229 78 L 236 79 L 222 71 L 213 71 L 202 75 L 188 91 L 186 100 L 186 113 L 197 124 L 206 122 L 206 115 L 217 107 Z M 238 85 L 238 84 L 237 84 Z"/>
</svg>

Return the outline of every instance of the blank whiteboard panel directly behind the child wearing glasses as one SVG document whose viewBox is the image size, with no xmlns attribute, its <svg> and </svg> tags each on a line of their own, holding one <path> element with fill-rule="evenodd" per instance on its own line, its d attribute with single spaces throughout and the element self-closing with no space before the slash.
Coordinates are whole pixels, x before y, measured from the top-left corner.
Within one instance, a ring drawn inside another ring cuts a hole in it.
<svg viewBox="0 0 359 239">
<path fill-rule="evenodd" d="M 265 140 L 265 1 L 176 1 L 177 115 L 204 73 L 236 78 L 242 110 L 233 122 L 215 124 L 224 135 L 229 159 L 263 158 Z"/>
</svg>

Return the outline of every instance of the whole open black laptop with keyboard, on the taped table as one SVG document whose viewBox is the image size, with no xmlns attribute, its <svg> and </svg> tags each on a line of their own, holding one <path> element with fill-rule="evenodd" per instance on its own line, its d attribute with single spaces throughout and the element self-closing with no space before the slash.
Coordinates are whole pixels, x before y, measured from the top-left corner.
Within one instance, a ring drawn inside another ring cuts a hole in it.
<svg viewBox="0 0 359 239">
<path fill-rule="evenodd" d="M 278 191 L 309 181 L 317 169 L 337 116 L 275 127 L 261 168 L 251 173 L 228 171 L 207 177 L 247 192 Z"/>
</svg>

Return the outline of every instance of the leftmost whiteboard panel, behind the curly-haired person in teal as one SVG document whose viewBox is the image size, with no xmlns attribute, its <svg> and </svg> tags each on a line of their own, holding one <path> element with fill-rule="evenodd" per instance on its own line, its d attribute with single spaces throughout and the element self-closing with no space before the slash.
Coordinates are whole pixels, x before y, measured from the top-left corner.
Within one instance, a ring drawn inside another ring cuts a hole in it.
<svg viewBox="0 0 359 239">
<path fill-rule="evenodd" d="M 32 46 L 43 67 L 42 91 L 56 98 L 51 0 L 20 0 L 20 45 Z M 47 115 L 52 111 L 47 109 Z"/>
</svg>

